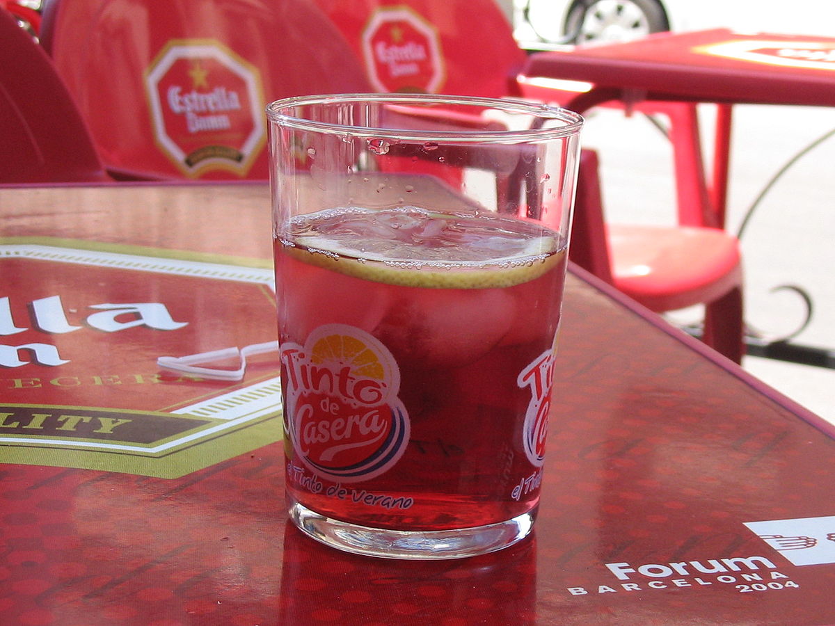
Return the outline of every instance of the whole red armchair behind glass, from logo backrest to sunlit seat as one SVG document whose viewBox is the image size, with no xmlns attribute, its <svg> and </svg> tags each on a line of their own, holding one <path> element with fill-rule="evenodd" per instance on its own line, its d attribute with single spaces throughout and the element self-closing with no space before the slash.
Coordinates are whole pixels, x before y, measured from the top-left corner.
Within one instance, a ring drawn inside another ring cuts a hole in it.
<svg viewBox="0 0 835 626">
<path fill-rule="evenodd" d="M 370 82 L 381 91 L 490 97 L 524 94 L 556 103 L 575 95 L 532 81 L 519 82 L 524 53 L 493 0 L 315 2 L 352 44 Z M 706 303 L 704 340 L 740 361 L 739 244 L 715 228 L 720 224 L 709 210 L 695 105 L 646 103 L 641 107 L 671 119 L 680 227 L 606 227 L 596 155 L 587 153 L 581 166 L 571 258 L 652 310 Z M 596 194 L 596 201 L 584 201 L 580 197 L 584 193 Z M 577 236 L 584 221 L 588 230 Z M 604 232 L 608 237 L 601 235 Z M 714 252 L 706 254 L 714 247 Z"/>
</svg>

